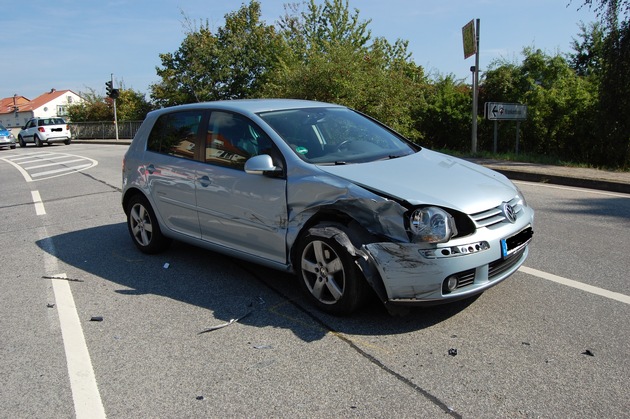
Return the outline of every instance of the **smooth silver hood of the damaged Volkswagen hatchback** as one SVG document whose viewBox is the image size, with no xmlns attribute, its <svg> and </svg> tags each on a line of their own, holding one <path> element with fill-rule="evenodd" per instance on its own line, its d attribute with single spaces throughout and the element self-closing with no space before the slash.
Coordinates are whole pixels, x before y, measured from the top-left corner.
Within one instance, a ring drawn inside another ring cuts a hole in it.
<svg viewBox="0 0 630 419">
<path fill-rule="evenodd" d="M 428 149 L 389 160 L 318 167 L 412 205 L 437 205 L 467 214 L 496 207 L 517 193 L 500 173 Z"/>
</svg>

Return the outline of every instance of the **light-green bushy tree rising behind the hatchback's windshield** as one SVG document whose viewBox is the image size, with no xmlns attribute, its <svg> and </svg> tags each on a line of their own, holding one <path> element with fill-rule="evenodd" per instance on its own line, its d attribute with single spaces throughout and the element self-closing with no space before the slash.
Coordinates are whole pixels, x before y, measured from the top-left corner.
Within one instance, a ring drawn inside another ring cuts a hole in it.
<svg viewBox="0 0 630 419">
<path fill-rule="evenodd" d="M 410 60 L 406 41 L 372 40 L 370 21 L 351 11 L 347 0 L 311 0 L 305 11 L 286 10 L 279 27 L 292 53 L 282 56 L 266 95 L 339 103 L 420 137 L 412 114 L 425 77 Z"/>
</svg>

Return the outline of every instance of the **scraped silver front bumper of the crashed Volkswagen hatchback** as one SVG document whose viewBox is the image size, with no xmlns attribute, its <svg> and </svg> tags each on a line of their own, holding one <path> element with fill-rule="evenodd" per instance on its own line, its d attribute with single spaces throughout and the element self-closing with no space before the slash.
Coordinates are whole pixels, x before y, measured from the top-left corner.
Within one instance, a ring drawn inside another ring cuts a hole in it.
<svg viewBox="0 0 630 419">
<path fill-rule="evenodd" d="M 364 263 L 362 269 L 388 304 L 430 305 L 472 297 L 497 285 L 525 262 L 531 225 L 510 231 L 485 231 L 475 235 L 484 236 L 483 240 L 431 249 L 414 243 L 366 244 L 362 250 L 368 255 L 369 268 Z"/>
</svg>

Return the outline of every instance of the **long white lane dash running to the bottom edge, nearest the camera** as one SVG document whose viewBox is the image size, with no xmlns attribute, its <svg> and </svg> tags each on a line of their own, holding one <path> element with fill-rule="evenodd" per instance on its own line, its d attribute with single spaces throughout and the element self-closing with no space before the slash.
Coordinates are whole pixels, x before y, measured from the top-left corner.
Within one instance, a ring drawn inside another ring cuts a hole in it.
<svg viewBox="0 0 630 419">
<path fill-rule="evenodd" d="M 59 270 L 59 263 L 55 256 L 55 246 L 45 229 L 40 233 L 40 237 L 42 237 L 46 273 L 50 274 L 51 277 L 66 278 L 65 273 L 55 273 Z M 70 283 L 63 279 L 49 279 L 49 281 L 52 281 L 55 294 L 55 305 L 61 326 L 75 417 L 78 419 L 104 419 L 106 418 L 105 408 L 96 383 L 92 360 L 85 343 L 85 336 L 72 297 Z"/>
</svg>

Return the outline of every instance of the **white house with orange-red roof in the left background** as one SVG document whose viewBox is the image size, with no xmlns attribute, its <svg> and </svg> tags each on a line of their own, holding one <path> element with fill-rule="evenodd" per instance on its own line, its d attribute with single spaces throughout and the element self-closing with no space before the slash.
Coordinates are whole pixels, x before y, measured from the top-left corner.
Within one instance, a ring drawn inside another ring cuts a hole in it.
<svg viewBox="0 0 630 419">
<path fill-rule="evenodd" d="M 68 106 L 83 101 L 72 90 L 50 89 L 49 92 L 29 100 L 24 96 L 13 95 L 0 99 L 0 124 L 5 127 L 20 128 L 31 118 L 51 116 L 66 117 Z"/>
</svg>

